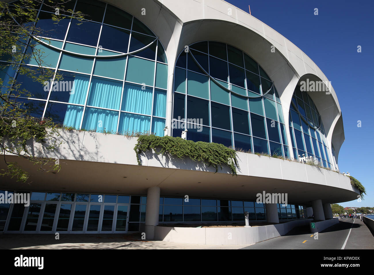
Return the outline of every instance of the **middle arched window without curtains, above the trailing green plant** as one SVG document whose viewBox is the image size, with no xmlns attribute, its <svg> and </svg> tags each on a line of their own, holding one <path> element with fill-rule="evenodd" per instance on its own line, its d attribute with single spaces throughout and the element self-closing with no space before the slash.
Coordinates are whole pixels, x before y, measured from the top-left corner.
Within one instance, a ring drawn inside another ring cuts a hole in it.
<svg viewBox="0 0 374 275">
<path fill-rule="evenodd" d="M 190 45 L 177 58 L 173 91 L 174 120 L 202 119 L 202 131 L 188 129 L 188 140 L 289 157 L 278 92 L 241 50 L 212 41 Z M 173 123 L 173 137 L 185 129 L 178 125 Z"/>
</svg>

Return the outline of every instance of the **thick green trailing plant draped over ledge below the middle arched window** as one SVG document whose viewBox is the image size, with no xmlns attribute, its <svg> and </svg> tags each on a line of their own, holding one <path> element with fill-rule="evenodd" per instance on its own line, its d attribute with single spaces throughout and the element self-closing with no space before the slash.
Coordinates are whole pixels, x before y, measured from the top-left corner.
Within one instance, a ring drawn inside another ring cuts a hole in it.
<svg viewBox="0 0 374 275">
<path fill-rule="evenodd" d="M 157 152 L 157 148 L 161 148 Z M 141 135 L 134 150 L 137 154 L 138 165 L 141 165 L 139 154 L 153 149 L 157 154 L 169 154 L 177 158 L 189 157 L 193 161 L 201 161 L 208 166 L 213 166 L 218 172 L 218 166 L 228 165 L 233 175 L 237 175 L 236 152 L 223 144 L 207 143 L 203 141 L 184 140 L 180 137 L 157 137 L 155 135 Z"/>
</svg>

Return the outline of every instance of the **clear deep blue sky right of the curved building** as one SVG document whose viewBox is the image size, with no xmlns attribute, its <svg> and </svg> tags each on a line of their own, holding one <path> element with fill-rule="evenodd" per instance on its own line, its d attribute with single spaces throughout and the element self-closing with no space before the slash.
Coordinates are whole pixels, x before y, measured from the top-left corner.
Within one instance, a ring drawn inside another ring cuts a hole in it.
<svg viewBox="0 0 374 275">
<path fill-rule="evenodd" d="M 278 31 L 308 55 L 331 81 L 343 114 L 341 172 L 366 188 L 365 200 L 343 207 L 374 207 L 374 1 L 226 0 Z M 314 9 L 318 8 L 318 15 Z M 357 52 L 361 45 L 362 52 Z M 357 127 L 361 120 L 362 127 Z"/>
</svg>

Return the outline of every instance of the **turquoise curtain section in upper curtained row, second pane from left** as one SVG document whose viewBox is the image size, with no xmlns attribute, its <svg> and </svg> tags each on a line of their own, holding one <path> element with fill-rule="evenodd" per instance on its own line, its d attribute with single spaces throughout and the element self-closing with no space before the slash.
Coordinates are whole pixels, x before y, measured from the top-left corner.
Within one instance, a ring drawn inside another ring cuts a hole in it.
<svg viewBox="0 0 374 275">
<path fill-rule="evenodd" d="M 87 105 L 119 110 L 122 83 L 102 78 L 92 78 Z"/>
</svg>

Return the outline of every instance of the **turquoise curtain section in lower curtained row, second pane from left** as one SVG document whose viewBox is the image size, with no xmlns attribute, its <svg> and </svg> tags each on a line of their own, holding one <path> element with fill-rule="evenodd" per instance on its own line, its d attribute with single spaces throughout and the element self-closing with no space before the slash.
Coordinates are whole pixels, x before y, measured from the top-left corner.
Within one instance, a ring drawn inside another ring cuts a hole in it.
<svg viewBox="0 0 374 275">
<path fill-rule="evenodd" d="M 87 107 L 82 128 L 96 132 L 117 131 L 118 112 Z"/>
</svg>

